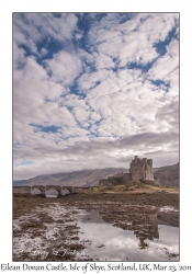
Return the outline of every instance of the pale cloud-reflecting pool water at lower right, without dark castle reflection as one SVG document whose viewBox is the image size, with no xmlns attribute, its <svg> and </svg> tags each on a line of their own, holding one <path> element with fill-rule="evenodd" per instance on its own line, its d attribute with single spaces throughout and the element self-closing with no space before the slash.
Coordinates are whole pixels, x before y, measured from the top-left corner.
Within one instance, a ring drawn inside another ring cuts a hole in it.
<svg viewBox="0 0 192 274">
<path fill-rule="evenodd" d="M 179 228 L 154 224 L 153 239 L 106 224 L 93 209 L 78 226 L 86 242 L 84 255 L 99 261 L 179 261 Z M 176 256 L 174 256 L 176 255 Z"/>
</svg>

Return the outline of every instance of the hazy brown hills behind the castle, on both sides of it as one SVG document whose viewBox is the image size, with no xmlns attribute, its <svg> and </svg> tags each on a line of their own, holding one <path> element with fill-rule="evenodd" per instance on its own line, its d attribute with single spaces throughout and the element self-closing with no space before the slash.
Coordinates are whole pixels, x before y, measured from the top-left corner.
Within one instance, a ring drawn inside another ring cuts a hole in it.
<svg viewBox="0 0 192 274">
<path fill-rule="evenodd" d="M 13 185 L 74 185 L 94 186 L 100 179 L 112 176 L 118 172 L 129 172 L 128 169 L 109 168 L 97 170 L 81 170 L 69 173 L 38 175 L 29 180 L 14 181 Z M 154 168 L 154 175 L 158 176 L 160 185 L 179 186 L 179 163 L 161 168 Z"/>
</svg>

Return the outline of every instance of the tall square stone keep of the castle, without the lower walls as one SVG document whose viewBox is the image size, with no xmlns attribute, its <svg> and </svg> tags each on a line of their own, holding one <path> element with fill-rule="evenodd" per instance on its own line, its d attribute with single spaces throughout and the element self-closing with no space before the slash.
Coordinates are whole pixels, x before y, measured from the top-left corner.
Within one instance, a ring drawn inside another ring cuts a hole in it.
<svg viewBox="0 0 192 274">
<path fill-rule="evenodd" d="M 131 162 L 129 173 L 132 181 L 154 181 L 153 160 L 135 156 Z"/>
</svg>

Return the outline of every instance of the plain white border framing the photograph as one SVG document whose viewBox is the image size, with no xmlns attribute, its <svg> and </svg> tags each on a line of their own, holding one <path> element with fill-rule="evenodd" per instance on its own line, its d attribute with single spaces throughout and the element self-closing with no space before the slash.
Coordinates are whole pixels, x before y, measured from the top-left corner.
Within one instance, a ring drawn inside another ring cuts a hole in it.
<svg viewBox="0 0 192 274">
<path fill-rule="evenodd" d="M 7 0 L 1 3 L 0 37 L 0 263 L 12 263 L 12 12 L 180 12 L 180 263 L 191 261 L 192 122 L 191 122 L 191 1 Z M 12 263 L 13 264 L 13 263 Z M 37 263 L 35 263 L 36 265 Z M 168 265 L 170 265 L 168 263 Z M 53 273 L 53 272 L 52 272 Z M 146 272 L 145 272 L 146 273 Z M 167 272 L 163 272 L 167 273 Z"/>
</svg>

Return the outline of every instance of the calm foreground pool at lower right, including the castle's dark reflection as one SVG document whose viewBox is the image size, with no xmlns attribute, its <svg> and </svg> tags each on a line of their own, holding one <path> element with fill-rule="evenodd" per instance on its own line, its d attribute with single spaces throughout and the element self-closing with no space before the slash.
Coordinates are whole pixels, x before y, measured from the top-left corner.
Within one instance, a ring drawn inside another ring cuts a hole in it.
<svg viewBox="0 0 192 274">
<path fill-rule="evenodd" d="M 132 218 L 126 219 L 126 229 L 122 229 L 121 222 L 117 227 L 115 220 L 105 222 L 98 209 L 81 215 L 78 226 L 83 231 L 79 237 L 86 244 L 84 258 L 99 261 L 179 261 L 179 228 L 170 226 L 170 220 L 166 224 L 168 218 L 159 225 L 162 214 L 159 215 L 157 208 L 153 208 L 151 214 L 145 208 L 142 213 L 136 212 L 132 210 Z M 176 214 L 169 214 L 169 218 L 176 218 Z"/>
</svg>

